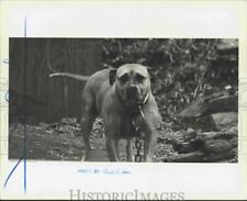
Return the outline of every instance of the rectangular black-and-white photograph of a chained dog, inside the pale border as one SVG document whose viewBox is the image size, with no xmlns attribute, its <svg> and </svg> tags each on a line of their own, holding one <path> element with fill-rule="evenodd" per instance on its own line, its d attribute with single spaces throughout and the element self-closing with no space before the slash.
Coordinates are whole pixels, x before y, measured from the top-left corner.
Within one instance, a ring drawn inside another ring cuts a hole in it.
<svg viewBox="0 0 247 201">
<path fill-rule="evenodd" d="M 10 37 L 9 159 L 238 163 L 238 38 Z"/>
</svg>

